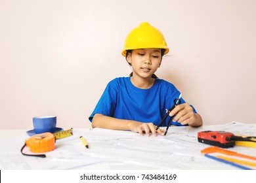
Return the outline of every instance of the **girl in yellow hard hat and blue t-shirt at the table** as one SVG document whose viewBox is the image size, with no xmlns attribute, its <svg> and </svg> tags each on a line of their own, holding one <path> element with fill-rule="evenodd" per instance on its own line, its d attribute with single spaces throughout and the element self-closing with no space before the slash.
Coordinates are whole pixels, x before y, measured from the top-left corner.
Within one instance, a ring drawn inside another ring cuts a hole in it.
<svg viewBox="0 0 256 183">
<path fill-rule="evenodd" d="M 156 125 L 165 116 L 165 109 L 173 106 L 180 95 L 173 84 L 154 75 L 168 52 L 163 35 L 152 25 L 143 22 L 133 29 L 121 53 L 133 72 L 129 77 L 115 78 L 108 83 L 89 117 L 92 126 L 131 130 L 140 135 L 164 135 L 163 129 L 156 130 Z M 175 116 L 172 125 L 196 127 L 203 123 L 200 114 L 182 98 L 169 116 Z M 167 126 L 167 121 L 163 126 Z"/>
</svg>

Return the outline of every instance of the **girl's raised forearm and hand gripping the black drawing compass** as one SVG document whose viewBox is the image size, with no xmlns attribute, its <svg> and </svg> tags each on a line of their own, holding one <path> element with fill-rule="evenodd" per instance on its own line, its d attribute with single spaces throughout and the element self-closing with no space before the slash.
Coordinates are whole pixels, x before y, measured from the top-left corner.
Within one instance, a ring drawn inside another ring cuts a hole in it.
<svg viewBox="0 0 256 183">
<path fill-rule="evenodd" d="M 192 127 L 198 127 L 203 125 L 203 120 L 200 114 L 194 113 L 193 108 L 188 103 L 177 105 L 170 113 L 169 116 L 173 116 L 173 122 L 179 122 L 182 125 L 190 125 Z"/>
</svg>

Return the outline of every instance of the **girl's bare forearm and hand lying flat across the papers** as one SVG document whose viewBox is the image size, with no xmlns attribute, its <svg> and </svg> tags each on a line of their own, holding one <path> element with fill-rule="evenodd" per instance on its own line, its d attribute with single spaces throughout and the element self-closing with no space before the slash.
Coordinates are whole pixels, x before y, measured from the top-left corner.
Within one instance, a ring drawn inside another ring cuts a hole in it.
<svg viewBox="0 0 256 183">
<path fill-rule="evenodd" d="M 164 131 L 162 129 L 158 129 L 158 131 L 156 131 L 156 126 L 152 123 L 121 120 L 110 116 L 104 116 L 102 114 L 95 114 L 93 116 L 92 126 L 105 129 L 131 130 L 133 132 L 140 133 L 140 135 L 146 133 L 146 135 L 149 136 L 150 132 L 154 136 L 156 136 L 157 133 L 164 135 Z"/>
</svg>

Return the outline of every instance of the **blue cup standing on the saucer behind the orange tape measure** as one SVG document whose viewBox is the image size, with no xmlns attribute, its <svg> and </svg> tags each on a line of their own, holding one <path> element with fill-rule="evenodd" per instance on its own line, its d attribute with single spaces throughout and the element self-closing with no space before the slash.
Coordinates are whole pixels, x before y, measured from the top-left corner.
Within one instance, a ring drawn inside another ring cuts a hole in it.
<svg viewBox="0 0 256 183">
<path fill-rule="evenodd" d="M 37 116 L 33 117 L 33 130 L 35 133 L 54 133 L 56 129 L 56 116 Z"/>
</svg>

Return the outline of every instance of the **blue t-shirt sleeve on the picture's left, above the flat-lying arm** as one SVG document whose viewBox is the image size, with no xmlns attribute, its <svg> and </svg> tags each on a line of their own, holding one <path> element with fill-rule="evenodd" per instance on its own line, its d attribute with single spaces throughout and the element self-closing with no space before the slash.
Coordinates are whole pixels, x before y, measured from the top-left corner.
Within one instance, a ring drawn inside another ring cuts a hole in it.
<svg viewBox="0 0 256 183">
<path fill-rule="evenodd" d="M 117 84 L 111 81 L 106 86 L 100 100 L 98 101 L 95 109 L 93 110 L 91 116 L 89 116 L 90 122 L 93 121 L 93 116 L 95 114 L 103 114 L 104 116 L 113 116 L 116 108 L 117 99 Z"/>
</svg>

